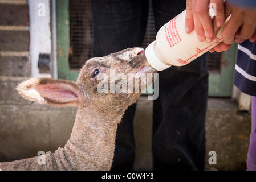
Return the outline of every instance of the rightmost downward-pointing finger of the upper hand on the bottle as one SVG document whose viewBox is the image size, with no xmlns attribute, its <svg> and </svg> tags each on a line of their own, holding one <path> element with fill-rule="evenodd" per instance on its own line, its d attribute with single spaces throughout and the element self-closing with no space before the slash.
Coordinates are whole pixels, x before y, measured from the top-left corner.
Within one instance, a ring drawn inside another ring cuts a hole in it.
<svg viewBox="0 0 256 182">
<path fill-rule="evenodd" d="M 222 27 L 225 21 L 224 1 L 223 0 L 211 0 L 211 3 L 216 5 L 216 25 Z"/>
</svg>

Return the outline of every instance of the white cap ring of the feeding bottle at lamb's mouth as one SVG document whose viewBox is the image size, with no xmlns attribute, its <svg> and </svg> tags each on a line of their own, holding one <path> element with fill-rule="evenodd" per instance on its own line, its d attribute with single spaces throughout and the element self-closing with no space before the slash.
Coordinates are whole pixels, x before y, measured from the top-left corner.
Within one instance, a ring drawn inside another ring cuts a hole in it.
<svg viewBox="0 0 256 182">
<path fill-rule="evenodd" d="M 145 51 L 146 58 L 148 60 L 148 63 L 156 69 L 157 71 L 162 71 L 164 69 L 167 69 L 171 66 L 171 64 L 164 64 L 162 61 L 156 56 L 154 45 L 156 43 L 156 40 L 148 45 Z"/>
</svg>

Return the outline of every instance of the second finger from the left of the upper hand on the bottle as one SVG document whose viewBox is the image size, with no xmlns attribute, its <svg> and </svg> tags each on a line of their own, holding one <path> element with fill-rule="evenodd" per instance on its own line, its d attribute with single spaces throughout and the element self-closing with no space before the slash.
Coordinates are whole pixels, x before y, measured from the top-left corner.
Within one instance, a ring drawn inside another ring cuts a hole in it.
<svg viewBox="0 0 256 182">
<path fill-rule="evenodd" d="M 193 19 L 194 19 L 194 30 L 197 32 L 197 38 L 199 41 L 204 41 L 205 40 L 205 32 L 202 27 L 202 23 L 200 21 L 200 18 L 198 17 L 196 10 L 194 7 L 196 7 L 196 0 L 193 0 L 193 8 L 192 8 L 192 13 L 193 13 Z"/>
</svg>

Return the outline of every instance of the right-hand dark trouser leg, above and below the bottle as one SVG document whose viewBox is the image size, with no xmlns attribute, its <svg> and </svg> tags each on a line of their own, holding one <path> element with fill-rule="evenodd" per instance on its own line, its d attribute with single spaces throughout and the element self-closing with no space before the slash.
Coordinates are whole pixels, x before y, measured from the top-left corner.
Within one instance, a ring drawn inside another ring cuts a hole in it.
<svg viewBox="0 0 256 182">
<path fill-rule="evenodd" d="M 153 1 L 156 29 L 185 10 L 185 1 Z M 208 72 L 203 55 L 159 72 L 153 103 L 153 168 L 203 170 Z"/>
</svg>

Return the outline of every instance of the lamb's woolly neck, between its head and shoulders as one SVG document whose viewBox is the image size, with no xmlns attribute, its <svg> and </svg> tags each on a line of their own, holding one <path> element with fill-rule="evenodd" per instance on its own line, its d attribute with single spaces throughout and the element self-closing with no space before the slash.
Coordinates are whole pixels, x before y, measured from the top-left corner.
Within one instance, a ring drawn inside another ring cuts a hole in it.
<svg viewBox="0 0 256 182">
<path fill-rule="evenodd" d="M 109 170 L 115 150 L 117 125 L 123 114 L 109 115 L 78 107 L 71 138 L 64 151 L 74 169 Z"/>
</svg>

